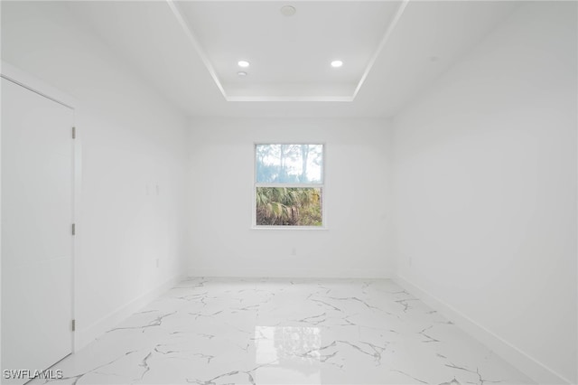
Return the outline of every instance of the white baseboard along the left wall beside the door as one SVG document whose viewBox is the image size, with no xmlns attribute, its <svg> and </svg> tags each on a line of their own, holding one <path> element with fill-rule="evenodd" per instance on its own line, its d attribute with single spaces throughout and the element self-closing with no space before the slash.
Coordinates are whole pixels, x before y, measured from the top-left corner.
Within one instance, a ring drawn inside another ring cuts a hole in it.
<svg viewBox="0 0 578 385">
<path fill-rule="evenodd" d="M 117 324 L 120 324 L 128 316 L 140 310 L 144 305 L 149 304 L 156 297 L 171 289 L 173 286 L 181 282 L 185 277 L 186 276 L 184 275 L 172 277 L 162 285 L 154 287 L 154 289 L 149 290 L 142 296 L 136 297 L 128 304 L 122 305 L 117 308 L 117 310 L 103 316 L 97 322 L 90 324 L 85 328 L 78 328 L 74 333 L 74 352 L 78 352 L 80 349 L 93 342 L 100 335 L 107 333 L 108 330 L 112 329 Z M 77 326 L 79 325 L 77 324 Z"/>
</svg>

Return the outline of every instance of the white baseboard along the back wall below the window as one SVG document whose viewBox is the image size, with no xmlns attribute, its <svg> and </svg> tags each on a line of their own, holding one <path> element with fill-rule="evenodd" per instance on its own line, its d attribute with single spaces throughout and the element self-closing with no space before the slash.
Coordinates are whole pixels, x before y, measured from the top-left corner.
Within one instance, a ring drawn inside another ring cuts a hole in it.
<svg viewBox="0 0 578 385">
<path fill-rule="evenodd" d="M 239 278 L 351 278 L 351 279 L 388 279 L 394 276 L 387 269 L 353 269 L 353 270 L 235 270 L 228 272 L 222 268 L 195 268 L 191 269 L 189 277 L 239 277 Z"/>
</svg>

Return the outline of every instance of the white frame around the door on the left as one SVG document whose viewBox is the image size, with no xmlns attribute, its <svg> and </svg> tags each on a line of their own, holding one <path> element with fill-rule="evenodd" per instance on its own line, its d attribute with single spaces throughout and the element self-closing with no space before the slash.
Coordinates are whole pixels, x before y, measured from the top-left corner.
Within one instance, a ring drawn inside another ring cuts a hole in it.
<svg viewBox="0 0 578 385">
<path fill-rule="evenodd" d="M 0 78 L 5 80 L 12 81 L 14 84 L 17 84 L 24 89 L 29 89 L 34 93 L 41 95 L 44 98 L 51 99 L 52 101 L 61 104 L 64 107 L 70 108 L 72 110 L 72 126 L 76 127 L 77 122 L 77 106 L 79 105 L 78 100 L 74 97 L 70 96 L 69 94 L 62 92 L 60 89 L 56 89 L 50 84 L 34 77 L 32 74 L 20 70 L 17 67 L 13 66 L 10 63 L 5 61 L 0 61 Z M 0 89 L 0 99 L 1 99 L 1 89 Z M 0 103 L 0 113 L 1 113 L 1 103 Z M 76 281 L 75 281 L 75 269 L 76 264 L 75 260 L 80 255 L 80 239 L 79 239 L 79 221 L 80 221 L 80 193 L 81 193 L 81 185 L 82 185 L 82 146 L 81 146 L 81 136 L 79 135 L 78 127 L 75 128 L 75 138 L 72 141 L 72 223 L 75 223 L 76 226 L 76 234 L 72 237 L 72 249 L 71 249 L 71 258 L 70 258 L 70 289 L 71 289 L 71 297 L 70 297 L 70 305 L 72 311 L 72 319 L 76 320 L 76 306 L 75 306 L 75 299 L 76 299 Z M 2 141 L 2 127 L 0 127 L 0 143 Z M 0 146 L 0 152 L 1 152 Z M 1 153 L 0 153 L 1 155 Z M 1 158 L 0 158 L 1 159 Z M 1 160 L 0 160 L 1 162 Z M 0 182 L 0 189 L 2 188 Z M 2 213 L 2 207 L 0 205 L 0 215 Z M 1 226 L 1 225 L 0 225 Z M 0 245 L 2 244 L 2 233 L 0 232 Z M 1 272 L 1 263 L 0 263 L 0 272 Z M 1 278 L 0 274 L 0 279 Z M 0 311 L 2 307 L 0 304 Z M 74 331 L 72 333 L 72 346 L 70 346 L 70 352 L 76 352 L 76 333 Z M 1 357 L 0 357 L 1 359 Z"/>
</svg>

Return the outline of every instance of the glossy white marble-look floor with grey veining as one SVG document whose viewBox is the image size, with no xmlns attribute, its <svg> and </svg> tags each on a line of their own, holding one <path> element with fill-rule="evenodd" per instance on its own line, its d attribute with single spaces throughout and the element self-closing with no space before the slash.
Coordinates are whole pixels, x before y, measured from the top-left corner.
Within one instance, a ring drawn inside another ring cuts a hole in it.
<svg viewBox="0 0 578 385">
<path fill-rule="evenodd" d="M 58 363 L 66 384 L 527 384 L 390 280 L 191 278 Z"/>
</svg>

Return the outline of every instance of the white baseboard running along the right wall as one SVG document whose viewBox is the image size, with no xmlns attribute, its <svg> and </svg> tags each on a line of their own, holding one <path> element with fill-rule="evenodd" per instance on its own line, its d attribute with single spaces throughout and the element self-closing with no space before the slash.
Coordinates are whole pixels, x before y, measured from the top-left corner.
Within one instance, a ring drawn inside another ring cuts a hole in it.
<svg viewBox="0 0 578 385">
<path fill-rule="evenodd" d="M 508 361 L 518 371 L 522 371 L 532 380 L 539 384 L 571 384 L 571 380 L 565 379 L 560 374 L 548 368 L 542 362 L 538 362 L 527 353 L 522 352 L 516 346 L 508 343 L 495 333 L 490 332 L 482 325 L 473 321 L 467 315 L 464 315 L 452 305 L 448 305 L 440 298 L 431 295 L 422 287 L 416 286 L 409 282 L 405 277 L 395 275 L 393 280 L 405 288 L 412 295 L 418 297 L 426 305 L 433 307 L 441 315 L 451 320 L 458 325 L 466 333 L 471 334 L 472 337 L 488 346 L 493 352 L 496 352 L 500 357 Z"/>
</svg>

